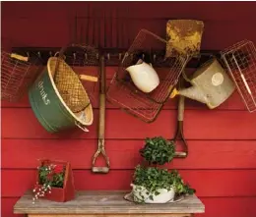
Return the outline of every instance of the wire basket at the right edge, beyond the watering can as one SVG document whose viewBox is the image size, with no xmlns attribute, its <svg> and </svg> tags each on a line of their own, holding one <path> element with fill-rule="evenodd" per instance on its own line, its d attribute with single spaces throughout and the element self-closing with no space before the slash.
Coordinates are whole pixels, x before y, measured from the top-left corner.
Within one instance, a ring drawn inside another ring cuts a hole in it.
<svg viewBox="0 0 256 217">
<path fill-rule="evenodd" d="M 224 64 L 249 112 L 256 111 L 256 49 L 247 39 L 222 52 Z"/>
</svg>

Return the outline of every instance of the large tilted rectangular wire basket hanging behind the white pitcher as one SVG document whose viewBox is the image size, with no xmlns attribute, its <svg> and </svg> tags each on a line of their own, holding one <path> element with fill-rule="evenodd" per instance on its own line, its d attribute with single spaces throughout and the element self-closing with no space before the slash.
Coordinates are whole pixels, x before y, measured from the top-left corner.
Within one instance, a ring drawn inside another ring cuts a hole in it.
<svg viewBox="0 0 256 217">
<path fill-rule="evenodd" d="M 140 30 L 108 86 L 107 100 L 144 122 L 155 121 L 189 60 L 184 56 L 166 58 L 165 47 L 164 39 L 147 29 Z M 160 78 L 150 93 L 138 89 L 126 71 L 138 60 L 151 64 Z"/>
</svg>

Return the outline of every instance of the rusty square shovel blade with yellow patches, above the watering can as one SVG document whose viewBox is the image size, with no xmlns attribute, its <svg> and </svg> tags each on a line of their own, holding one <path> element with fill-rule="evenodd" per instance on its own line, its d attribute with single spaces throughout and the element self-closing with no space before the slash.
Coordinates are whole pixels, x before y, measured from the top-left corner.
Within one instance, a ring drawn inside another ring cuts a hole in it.
<svg viewBox="0 0 256 217">
<path fill-rule="evenodd" d="M 198 57 L 204 23 L 196 20 L 171 20 L 167 22 L 166 57 Z"/>
</svg>

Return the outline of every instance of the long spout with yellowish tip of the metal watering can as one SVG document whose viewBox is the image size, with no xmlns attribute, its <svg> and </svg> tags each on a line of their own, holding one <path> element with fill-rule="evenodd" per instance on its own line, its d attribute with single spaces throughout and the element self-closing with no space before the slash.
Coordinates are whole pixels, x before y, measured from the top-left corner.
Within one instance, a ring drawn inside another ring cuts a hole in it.
<svg viewBox="0 0 256 217">
<path fill-rule="evenodd" d="M 189 88 L 179 90 L 174 88 L 170 94 L 170 98 L 174 98 L 176 95 L 183 95 L 187 98 L 191 98 L 205 104 L 208 103 L 207 96 L 204 93 L 202 93 L 197 86 L 191 86 Z"/>
</svg>

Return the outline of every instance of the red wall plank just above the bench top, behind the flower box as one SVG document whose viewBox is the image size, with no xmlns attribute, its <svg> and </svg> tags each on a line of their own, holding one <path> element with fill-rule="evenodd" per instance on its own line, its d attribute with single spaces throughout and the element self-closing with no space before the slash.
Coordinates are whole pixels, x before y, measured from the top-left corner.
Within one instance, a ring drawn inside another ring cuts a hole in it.
<svg viewBox="0 0 256 217">
<path fill-rule="evenodd" d="M 73 173 L 77 190 L 131 190 L 133 170 L 112 170 L 107 175 L 91 170 Z M 256 196 L 256 170 L 180 170 L 180 174 L 198 196 Z M 35 176 L 35 170 L 3 170 L 2 196 L 23 195 L 33 188 Z"/>
</svg>

